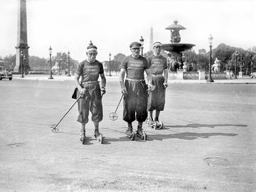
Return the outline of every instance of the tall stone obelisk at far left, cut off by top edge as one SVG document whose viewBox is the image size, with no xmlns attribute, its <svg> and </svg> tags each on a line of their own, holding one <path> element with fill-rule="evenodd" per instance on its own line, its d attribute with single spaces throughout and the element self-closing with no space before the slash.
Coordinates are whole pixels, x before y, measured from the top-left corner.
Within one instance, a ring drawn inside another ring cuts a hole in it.
<svg viewBox="0 0 256 192">
<path fill-rule="evenodd" d="M 18 41 L 16 48 L 16 65 L 14 70 L 21 72 L 21 51 L 23 52 L 23 70 L 28 73 L 28 35 L 26 22 L 26 0 L 18 0 Z"/>
</svg>

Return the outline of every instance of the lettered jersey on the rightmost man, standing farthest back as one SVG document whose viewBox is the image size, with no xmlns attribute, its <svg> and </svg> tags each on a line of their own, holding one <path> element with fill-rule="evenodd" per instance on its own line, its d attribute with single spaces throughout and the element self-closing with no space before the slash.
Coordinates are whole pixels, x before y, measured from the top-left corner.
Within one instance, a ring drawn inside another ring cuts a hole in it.
<svg viewBox="0 0 256 192">
<path fill-rule="evenodd" d="M 162 75 L 167 68 L 167 60 L 163 55 L 151 55 L 147 60 L 149 61 L 149 69 L 152 75 Z"/>
</svg>

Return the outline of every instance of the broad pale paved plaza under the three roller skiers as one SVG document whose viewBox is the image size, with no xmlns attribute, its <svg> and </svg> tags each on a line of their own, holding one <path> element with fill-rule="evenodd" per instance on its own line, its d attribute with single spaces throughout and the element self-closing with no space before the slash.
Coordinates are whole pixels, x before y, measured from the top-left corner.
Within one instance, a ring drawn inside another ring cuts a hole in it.
<svg viewBox="0 0 256 192">
<path fill-rule="evenodd" d="M 107 76 L 103 144 L 80 143 L 74 76 L 18 75 L 0 81 L 0 191 L 256 191 L 256 80 L 169 80 L 164 129 L 146 142 L 108 117 L 121 97 Z M 137 127 L 137 124 L 134 124 Z"/>
</svg>

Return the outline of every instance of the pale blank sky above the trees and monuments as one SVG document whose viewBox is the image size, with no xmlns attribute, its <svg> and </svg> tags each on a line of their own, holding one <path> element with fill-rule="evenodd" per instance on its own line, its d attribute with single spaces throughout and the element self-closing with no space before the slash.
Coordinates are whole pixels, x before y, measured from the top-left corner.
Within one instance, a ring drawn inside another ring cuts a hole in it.
<svg viewBox="0 0 256 192">
<path fill-rule="evenodd" d="M 16 54 L 18 1 L 0 0 L 0 56 Z M 170 43 L 165 28 L 177 20 L 186 27 L 181 43 L 193 43 L 193 50 L 209 50 L 220 43 L 245 50 L 256 46 L 256 0 L 27 0 L 29 55 L 48 58 L 48 48 L 85 60 L 92 41 L 97 60 L 109 60 L 109 53 L 130 54 L 129 44 L 144 38 L 149 50 L 150 28 L 154 41 Z"/>
</svg>

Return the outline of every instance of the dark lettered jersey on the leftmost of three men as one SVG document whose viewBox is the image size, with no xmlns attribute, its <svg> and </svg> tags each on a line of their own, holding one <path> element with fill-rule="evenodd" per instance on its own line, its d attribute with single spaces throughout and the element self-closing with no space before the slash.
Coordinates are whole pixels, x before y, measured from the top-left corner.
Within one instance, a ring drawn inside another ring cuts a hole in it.
<svg viewBox="0 0 256 192">
<path fill-rule="evenodd" d="M 98 60 L 95 60 L 94 63 L 84 60 L 76 70 L 76 74 L 82 77 L 82 82 L 97 81 L 102 73 L 104 73 L 103 65 Z"/>
</svg>

